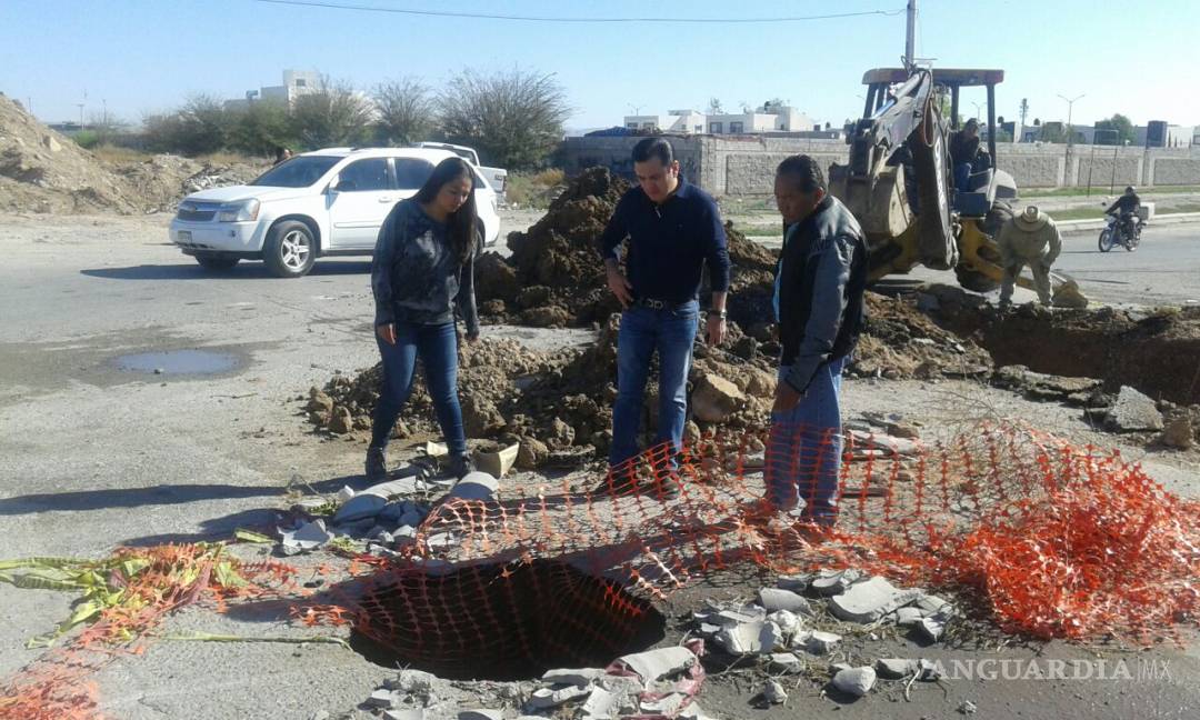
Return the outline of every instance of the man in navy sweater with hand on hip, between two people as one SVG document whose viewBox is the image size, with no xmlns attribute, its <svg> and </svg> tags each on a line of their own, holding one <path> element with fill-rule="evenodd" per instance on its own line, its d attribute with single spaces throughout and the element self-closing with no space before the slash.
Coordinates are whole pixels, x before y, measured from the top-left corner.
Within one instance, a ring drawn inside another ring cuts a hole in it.
<svg viewBox="0 0 1200 720">
<path fill-rule="evenodd" d="M 624 468 L 638 454 L 650 358 L 659 353 L 658 440 L 678 451 L 688 410 L 688 370 L 700 319 L 701 274 L 708 266 L 713 289 L 707 337 L 725 338 L 730 256 L 720 210 L 708 193 L 679 174 L 671 144 L 646 138 L 634 148 L 637 187 L 617 203 L 600 239 L 608 289 L 624 312 L 617 338 L 617 402 L 612 412 L 608 463 Z M 620 246 L 628 240 L 625 266 Z"/>
</svg>

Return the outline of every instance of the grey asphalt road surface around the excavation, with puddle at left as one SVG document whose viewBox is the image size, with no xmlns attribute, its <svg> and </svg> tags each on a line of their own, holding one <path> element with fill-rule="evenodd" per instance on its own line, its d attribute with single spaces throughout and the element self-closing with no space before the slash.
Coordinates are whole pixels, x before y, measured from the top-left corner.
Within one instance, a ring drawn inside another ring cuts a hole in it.
<svg viewBox="0 0 1200 720">
<path fill-rule="evenodd" d="M 162 217 L 0 217 L 0 559 L 101 557 L 119 545 L 224 539 L 235 528 L 270 523 L 294 480 L 328 492 L 361 482 L 362 446 L 311 433 L 298 396 L 335 372 L 376 361 L 367 264 L 322 262 L 308 277 L 281 281 L 251 263 L 214 277 L 164 244 L 164 226 Z M 1100 256 L 1090 246 L 1094 238 L 1070 238 L 1062 265 L 1097 296 L 1146 298 L 1148 278 L 1157 278 L 1163 301 L 1182 302 L 1200 298 L 1194 234 L 1188 227 L 1152 228 L 1132 256 Z M 580 341 L 527 329 L 487 328 L 487 335 Z M 172 355 L 162 355 L 161 374 L 154 362 L 126 362 L 130 355 L 178 350 L 210 353 L 211 365 L 200 370 L 212 372 L 175 373 Z M 979 409 L 964 403 L 964 392 L 977 394 Z M 847 414 L 911 412 L 930 426 L 940 418 L 953 426 L 985 406 L 1086 442 L 1116 442 L 1087 434 L 1074 410 L 983 386 L 911 382 L 881 392 L 848 383 L 846 390 Z M 1141 458 L 1156 478 L 1195 485 L 1194 457 L 1148 456 L 1129 446 L 1122 452 Z M 70 600 L 0 584 L 0 677 L 37 658 L 25 641 L 66 618 Z M 305 632 L 278 617 L 239 619 L 203 608 L 172 618 L 164 629 Z M 949 718 L 970 698 L 979 716 L 992 718 L 1076 710 L 1192 718 L 1200 704 L 1198 654 L 1154 650 L 1172 671 L 1156 683 L 964 682 L 946 695 L 929 689 L 913 703 L 870 697 L 845 707 L 809 694 L 761 716 Z M 95 679 L 102 709 L 120 719 L 304 719 L 319 710 L 370 716 L 356 708 L 390 674 L 337 646 L 161 641 Z M 710 696 L 706 707 L 724 718 L 760 716 L 746 704 L 749 690 L 714 682 L 701 697 Z"/>
</svg>

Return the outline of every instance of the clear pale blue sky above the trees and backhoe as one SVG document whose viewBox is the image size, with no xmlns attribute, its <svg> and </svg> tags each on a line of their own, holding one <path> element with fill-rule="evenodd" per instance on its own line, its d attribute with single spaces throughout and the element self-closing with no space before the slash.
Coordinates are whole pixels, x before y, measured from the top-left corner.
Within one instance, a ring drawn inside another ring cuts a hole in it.
<svg viewBox="0 0 1200 720">
<path fill-rule="evenodd" d="M 376 7 L 574 17 L 778 17 L 898 11 L 905 0 L 328 0 Z M 935 67 L 997 67 L 998 114 L 1075 122 L 1120 112 L 1135 124 L 1200 125 L 1200 0 L 920 0 L 917 55 Z M 0 0 L 0 91 L 46 121 L 137 121 L 190 94 L 241 97 L 317 70 L 361 89 L 402 74 L 437 85 L 462 67 L 553 72 L 571 128 L 643 113 L 727 109 L 782 97 L 839 125 L 862 110 L 862 73 L 895 65 L 904 13 L 773 24 L 544 24 L 412 17 L 253 0 Z M 964 100 L 983 102 L 983 90 Z"/>
</svg>

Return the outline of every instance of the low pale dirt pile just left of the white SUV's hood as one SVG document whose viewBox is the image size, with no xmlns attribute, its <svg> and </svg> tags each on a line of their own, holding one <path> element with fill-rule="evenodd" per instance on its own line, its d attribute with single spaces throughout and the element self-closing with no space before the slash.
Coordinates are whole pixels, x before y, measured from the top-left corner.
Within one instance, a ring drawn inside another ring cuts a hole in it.
<svg viewBox="0 0 1200 720">
<path fill-rule="evenodd" d="M 184 196 L 210 187 L 246 185 L 266 167 L 265 162 L 215 164 L 178 155 L 155 155 L 142 162 L 114 164 L 114 170 L 143 211 L 173 212 Z"/>
</svg>

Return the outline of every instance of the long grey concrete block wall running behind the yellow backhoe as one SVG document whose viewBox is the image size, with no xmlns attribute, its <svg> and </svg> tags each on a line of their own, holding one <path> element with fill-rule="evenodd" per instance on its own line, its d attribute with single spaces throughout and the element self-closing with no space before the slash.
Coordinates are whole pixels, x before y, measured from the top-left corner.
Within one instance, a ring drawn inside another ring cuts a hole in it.
<svg viewBox="0 0 1200 720">
<path fill-rule="evenodd" d="M 630 157 L 642 138 L 568 138 L 558 164 L 568 173 L 605 166 L 632 178 Z M 762 136 L 671 137 L 684 176 L 714 196 L 767 196 L 775 166 L 788 155 L 806 154 L 826 166 L 845 163 L 842 140 L 772 138 Z M 997 145 L 997 166 L 1016 178 L 1018 187 L 1106 187 L 1117 185 L 1200 185 L 1200 148 L 1111 148 L 1105 145 Z M 1115 162 L 1114 162 L 1115 156 Z M 1114 167 L 1116 173 L 1114 174 Z"/>
</svg>

